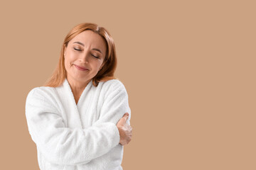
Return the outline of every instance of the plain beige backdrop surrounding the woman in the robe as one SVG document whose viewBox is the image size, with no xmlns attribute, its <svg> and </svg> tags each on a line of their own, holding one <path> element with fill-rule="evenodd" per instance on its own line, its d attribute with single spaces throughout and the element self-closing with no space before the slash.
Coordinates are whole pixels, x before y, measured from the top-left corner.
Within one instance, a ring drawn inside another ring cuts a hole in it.
<svg viewBox="0 0 256 170">
<path fill-rule="evenodd" d="M 125 170 L 256 169 L 252 2 L 1 1 L 0 169 L 38 169 L 26 96 L 83 22 L 116 43 L 134 128 Z"/>
</svg>

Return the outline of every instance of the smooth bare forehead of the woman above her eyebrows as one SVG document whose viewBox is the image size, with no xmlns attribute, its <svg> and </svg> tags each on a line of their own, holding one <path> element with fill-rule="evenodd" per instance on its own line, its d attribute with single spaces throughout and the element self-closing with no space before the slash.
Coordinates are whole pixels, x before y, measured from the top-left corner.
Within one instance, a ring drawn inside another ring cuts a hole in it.
<svg viewBox="0 0 256 170">
<path fill-rule="evenodd" d="M 90 46 L 101 48 L 103 51 L 106 50 L 105 40 L 102 38 L 102 36 L 93 32 L 92 30 L 85 30 L 82 33 L 79 33 L 72 40 L 70 40 L 70 42 L 82 42 L 85 47 Z"/>
</svg>

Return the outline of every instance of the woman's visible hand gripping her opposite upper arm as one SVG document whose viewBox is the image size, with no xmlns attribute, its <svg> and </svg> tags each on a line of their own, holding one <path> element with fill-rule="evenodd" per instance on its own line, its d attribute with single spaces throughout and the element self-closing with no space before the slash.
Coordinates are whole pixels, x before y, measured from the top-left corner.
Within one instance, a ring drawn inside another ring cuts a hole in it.
<svg viewBox="0 0 256 170">
<path fill-rule="evenodd" d="M 126 123 L 128 117 L 129 114 L 125 113 L 124 116 L 117 123 L 117 128 L 120 135 L 119 144 L 121 145 L 127 145 L 132 140 L 132 126 Z"/>
</svg>

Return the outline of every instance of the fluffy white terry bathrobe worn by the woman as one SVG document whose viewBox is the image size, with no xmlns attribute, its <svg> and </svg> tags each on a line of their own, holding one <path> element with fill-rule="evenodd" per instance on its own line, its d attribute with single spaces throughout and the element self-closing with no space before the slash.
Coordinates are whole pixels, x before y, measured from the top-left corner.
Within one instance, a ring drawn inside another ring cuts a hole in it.
<svg viewBox="0 0 256 170">
<path fill-rule="evenodd" d="M 75 103 L 62 86 L 36 87 L 26 98 L 28 131 L 36 143 L 41 170 L 122 169 L 123 146 L 117 122 L 129 113 L 127 91 L 113 79 L 85 87 Z"/>
</svg>

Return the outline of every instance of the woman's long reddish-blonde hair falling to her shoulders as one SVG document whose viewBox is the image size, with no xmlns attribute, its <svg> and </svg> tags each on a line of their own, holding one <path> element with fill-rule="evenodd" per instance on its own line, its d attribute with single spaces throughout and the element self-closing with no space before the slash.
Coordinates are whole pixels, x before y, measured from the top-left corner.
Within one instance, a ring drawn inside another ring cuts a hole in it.
<svg viewBox="0 0 256 170">
<path fill-rule="evenodd" d="M 65 37 L 63 45 L 61 46 L 58 65 L 55 68 L 52 76 L 50 77 L 50 79 L 48 79 L 48 81 L 46 81 L 46 84 L 44 84 L 44 86 L 57 87 L 63 84 L 63 81 L 67 77 L 67 72 L 65 70 L 64 65 L 65 47 L 68 46 L 68 42 L 70 42 L 70 40 L 72 40 L 76 35 L 82 33 L 85 30 L 92 30 L 95 33 L 102 36 L 107 45 L 106 56 L 102 63 L 103 67 L 96 74 L 96 76 L 92 78 L 92 84 L 94 86 L 97 86 L 100 81 L 115 79 L 114 71 L 117 68 L 117 57 L 115 52 L 114 40 L 112 36 L 110 35 L 110 33 L 108 33 L 108 31 L 105 28 L 99 27 L 95 23 L 80 23 L 78 26 L 75 26 L 72 30 L 70 30 L 68 35 Z"/>
</svg>

